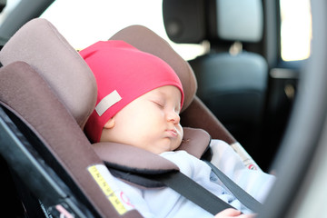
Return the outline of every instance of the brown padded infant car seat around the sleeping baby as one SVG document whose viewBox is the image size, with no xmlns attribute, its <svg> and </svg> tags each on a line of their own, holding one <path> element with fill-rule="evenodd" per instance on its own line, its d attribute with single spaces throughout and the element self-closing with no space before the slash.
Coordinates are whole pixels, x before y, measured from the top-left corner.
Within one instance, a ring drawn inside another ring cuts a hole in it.
<svg viewBox="0 0 327 218">
<path fill-rule="evenodd" d="M 172 65 L 187 89 L 183 125 L 204 128 L 213 138 L 237 144 L 193 96 L 192 69 L 163 39 L 143 26 L 127 27 L 112 39 L 125 40 Z M 40 18 L 24 25 L 1 50 L 0 62 L 4 65 L 0 69 L 0 152 L 18 186 L 26 186 L 46 213 L 57 216 L 141 217 L 120 198 L 112 173 L 82 131 L 94 110 L 95 80 L 54 25 Z M 189 75 L 183 78 L 185 72 Z M 191 119 L 194 113 L 203 116 Z M 240 148 L 238 153 L 250 162 Z M 113 150 L 112 156 L 121 154 Z"/>
</svg>

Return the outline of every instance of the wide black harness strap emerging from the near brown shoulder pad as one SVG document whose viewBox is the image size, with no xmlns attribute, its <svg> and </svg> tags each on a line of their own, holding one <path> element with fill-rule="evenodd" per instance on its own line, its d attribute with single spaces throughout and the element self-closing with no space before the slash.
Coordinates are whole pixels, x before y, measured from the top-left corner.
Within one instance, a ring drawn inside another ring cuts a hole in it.
<svg viewBox="0 0 327 218">
<path fill-rule="evenodd" d="M 210 193 L 208 190 L 203 188 L 203 186 L 195 183 L 183 173 L 163 173 L 151 175 L 148 178 L 165 184 L 175 192 L 180 193 L 182 196 L 213 215 L 220 213 L 224 209 L 233 208 L 233 206 L 223 202 L 222 199 L 218 198 L 213 193 Z"/>
</svg>

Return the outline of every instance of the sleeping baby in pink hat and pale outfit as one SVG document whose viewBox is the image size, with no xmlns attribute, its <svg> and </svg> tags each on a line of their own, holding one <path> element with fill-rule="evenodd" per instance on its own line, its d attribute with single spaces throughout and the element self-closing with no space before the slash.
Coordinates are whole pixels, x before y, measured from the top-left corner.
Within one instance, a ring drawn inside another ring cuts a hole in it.
<svg viewBox="0 0 327 218">
<path fill-rule="evenodd" d="M 184 94 L 168 64 L 123 41 L 98 42 L 80 54 L 98 85 L 96 107 L 84 128 L 93 143 L 129 144 L 159 154 L 238 210 L 226 209 L 215 217 L 251 217 L 252 212 L 224 189 L 206 163 L 185 151 L 175 151 L 183 139 L 179 114 Z M 223 173 L 263 202 L 273 176 L 246 169 L 223 141 L 212 140 L 211 144 L 219 146 L 222 160 L 228 161 L 219 166 Z M 213 217 L 168 187 L 141 189 L 119 179 L 116 182 L 144 217 Z"/>
</svg>

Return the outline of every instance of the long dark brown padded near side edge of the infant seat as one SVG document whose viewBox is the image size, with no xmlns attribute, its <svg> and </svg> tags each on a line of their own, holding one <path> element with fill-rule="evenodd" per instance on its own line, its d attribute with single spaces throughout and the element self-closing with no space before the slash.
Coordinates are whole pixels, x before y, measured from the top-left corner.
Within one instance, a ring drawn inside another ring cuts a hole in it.
<svg viewBox="0 0 327 218">
<path fill-rule="evenodd" d="M 103 164 L 102 160 L 94 153 L 74 117 L 31 66 L 23 62 L 9 64 L 1 68 L 0 78 L 0 104 L 16 114 L 44 142 L 102 217 L 141 217 L 136 211 L 123 216 L 116 213 L 87 171 L 91 165 Z"/>
</svg>

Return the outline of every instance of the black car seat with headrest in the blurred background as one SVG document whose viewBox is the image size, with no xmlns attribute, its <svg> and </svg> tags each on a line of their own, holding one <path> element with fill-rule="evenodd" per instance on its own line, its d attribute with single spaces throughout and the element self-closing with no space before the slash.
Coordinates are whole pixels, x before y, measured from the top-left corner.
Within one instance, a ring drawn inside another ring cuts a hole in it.
<svg viewBox="0 0 327 218">
<path fill-rule="evenodd" d="M 163 0 L 163 21 L 178 44 L 209 42 L 210 52 L 190 61 L 197 96 L 254 156 L 261 137 L 268 64 L 255 51 L 263 35 L 260 0 Z M 258 157 L 255 156 L 258 154 Z"/>
</svg>

